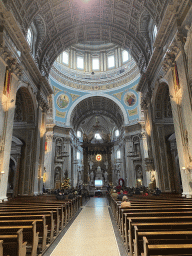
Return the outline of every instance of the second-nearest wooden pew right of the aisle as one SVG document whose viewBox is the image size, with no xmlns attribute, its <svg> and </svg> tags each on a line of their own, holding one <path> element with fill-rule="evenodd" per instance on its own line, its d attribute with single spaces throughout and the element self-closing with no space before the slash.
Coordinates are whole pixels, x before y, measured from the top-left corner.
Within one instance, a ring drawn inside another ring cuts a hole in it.
<svg viewBox="0 0 192 256">
<path fill-rule="evenodd" d="M 184 241 L 187 239 L 192 240 L 192 231 L 139 231 L 138 228 L 135 226 L 135 241 L 134 241 L 134 253 L 135 256 L 141 255 L 141 253 L 144 253 L 143 249 L 143 237 L 146 237 L 149 239 L 156 239 L 156 240 L 162 240 L 162 239 L 177 239 Z"/>
</svg>

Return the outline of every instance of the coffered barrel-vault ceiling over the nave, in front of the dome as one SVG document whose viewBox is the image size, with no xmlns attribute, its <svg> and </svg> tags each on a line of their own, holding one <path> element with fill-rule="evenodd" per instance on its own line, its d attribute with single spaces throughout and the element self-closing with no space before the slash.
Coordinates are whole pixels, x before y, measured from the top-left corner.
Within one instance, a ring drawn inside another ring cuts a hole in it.
<svg viewBox="0 0 192 256">
<path fill-rule="evenodd" d="M 168 0 L 3 0 L 26 35 L 38 29 L 36 61 L 48 76 L 57 56 L 86 41 L 112 42 L 128 49 L 140 71 L 147 66 L 151 45 L 149 19 L 158 26 Z M 38 24 L 38 25 L 37 25 Z"/>
</svg>

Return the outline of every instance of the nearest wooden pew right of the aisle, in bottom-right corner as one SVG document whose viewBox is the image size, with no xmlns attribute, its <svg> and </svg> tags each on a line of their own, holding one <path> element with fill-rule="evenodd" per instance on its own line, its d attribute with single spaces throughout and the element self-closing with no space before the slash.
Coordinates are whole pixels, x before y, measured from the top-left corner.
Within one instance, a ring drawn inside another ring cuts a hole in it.
<svg viewBox="0 0 192 256">
<path fill-rule="evenodd" d="M 146 237 L 143 237 L 144 253 L 142 256 L 151 255 L 177 255 L 187 256 L 192 255 L 192 242 L 189 244 L 150 244 Z"/>
</svg>

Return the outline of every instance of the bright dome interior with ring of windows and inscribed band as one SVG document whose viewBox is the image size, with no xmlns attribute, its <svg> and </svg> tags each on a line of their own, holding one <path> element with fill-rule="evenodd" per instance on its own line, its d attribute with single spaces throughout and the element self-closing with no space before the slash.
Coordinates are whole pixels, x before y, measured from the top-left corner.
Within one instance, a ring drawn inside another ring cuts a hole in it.
<svg viewBox="0 0 192 256">
<path fill-rule="evenodd" d="M 114 43 L 90 41 L 67 48 L 54 62 L 50 77 L 65 87 L 109 90 L 123 87 L 139 76 L 129 52 Z"/>
</svg>

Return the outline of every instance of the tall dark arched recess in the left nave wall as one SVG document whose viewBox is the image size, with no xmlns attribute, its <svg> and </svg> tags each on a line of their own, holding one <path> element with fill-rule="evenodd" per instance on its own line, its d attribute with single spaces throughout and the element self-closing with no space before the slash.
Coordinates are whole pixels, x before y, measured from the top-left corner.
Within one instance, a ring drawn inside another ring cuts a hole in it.
<svg viewBox="0 0 192 256">
<path fill-rule="evenodd" d="M 14 196 L 33 193 L 35 133 L 34 102 L 28 88 L 20 87 L 16 94 L 13 136 L 22 143 L 22 148 Z M 14 151 L 14 143 L 11 151 Z"/>
</svg>

